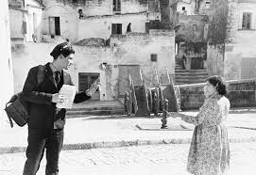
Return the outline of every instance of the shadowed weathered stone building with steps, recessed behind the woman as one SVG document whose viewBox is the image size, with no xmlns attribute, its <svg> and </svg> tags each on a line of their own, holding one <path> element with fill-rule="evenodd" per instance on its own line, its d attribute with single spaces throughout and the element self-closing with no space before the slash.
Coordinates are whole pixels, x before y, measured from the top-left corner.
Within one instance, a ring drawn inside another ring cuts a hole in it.
<svg viewBox="0 0 256 175">
<path fill-rule="evenodd" d="M 176 84 L 200 83 L 209 75 L 205 3 L 197 0 L 177 2 Z"/>
</svg>

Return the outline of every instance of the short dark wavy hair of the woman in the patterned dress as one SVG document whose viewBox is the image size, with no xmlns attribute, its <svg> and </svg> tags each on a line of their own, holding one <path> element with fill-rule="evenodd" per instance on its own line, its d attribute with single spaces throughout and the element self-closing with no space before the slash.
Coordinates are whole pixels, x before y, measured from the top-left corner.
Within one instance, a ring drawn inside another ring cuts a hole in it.
<svg viewBox="0 0 256 175">
<path fill-rule="evenodd" d="M 226 80 L 219 76 L 219 75 L 213 75 L 206 79 L 213 87 L 216 88 L 217 92 L 220 95 L 227 95 L 229 93 L 229 84 L 226 82 Z"/>
</svg>

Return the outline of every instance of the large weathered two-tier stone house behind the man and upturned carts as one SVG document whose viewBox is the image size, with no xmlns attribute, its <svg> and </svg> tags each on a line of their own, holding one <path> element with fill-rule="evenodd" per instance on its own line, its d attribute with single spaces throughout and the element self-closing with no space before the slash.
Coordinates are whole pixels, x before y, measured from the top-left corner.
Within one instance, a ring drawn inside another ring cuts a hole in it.
<svg viewBox="0 0 256 175">
<path fill-rule="evenodd" d="M 101 88 L 94 100 L 122 97 L 128 89 L 128 74 L 135 85 L 141 84 L 140 70 L 147 86 L 155 70 L 161 75 L 167 69 L 174 76 L 175 32 L 170 27 L 169 4 L 164 8 L 158 0 L 42 3 L 42 42 L 26 42 L 23 48 L 12 50 L 15 91 L 23 87 L 28 69 L 51 61 L 50 51 L 65 39 L 76 51 L 76 64 L 69 72 L 77 90 L 89 88 L 95 78 L 100 78 Z M 150 21 L 159 21 L 162 28 L 146 27 Z M 20 68 L 20 64 L 25 66 Z"/>
</svg>

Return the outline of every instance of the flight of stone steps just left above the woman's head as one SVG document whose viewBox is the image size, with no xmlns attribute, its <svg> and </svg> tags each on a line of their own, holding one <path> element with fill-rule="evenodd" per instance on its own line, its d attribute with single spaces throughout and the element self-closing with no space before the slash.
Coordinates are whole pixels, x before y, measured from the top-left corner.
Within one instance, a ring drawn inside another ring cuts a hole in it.
<svg viewBox="0 0 256 175">
<path fill-rule="evenodd" d="M 175 69 L 175 85 L 203 83 L 208 78 L 206 70 L 181 70 Z"/>
</svg>

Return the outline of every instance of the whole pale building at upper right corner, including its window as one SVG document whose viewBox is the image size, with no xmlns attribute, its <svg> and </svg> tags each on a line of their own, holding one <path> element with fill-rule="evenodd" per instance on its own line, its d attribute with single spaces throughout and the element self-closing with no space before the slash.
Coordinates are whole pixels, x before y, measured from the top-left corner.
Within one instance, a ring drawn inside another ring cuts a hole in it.
<svg viewBox="0 0 256 175">
<path fill-rule="evenodd" d="M 227 79 L 256 78 L 256 1 L 230 1 L 232 42 L 225 48 Z"/>
</svg>

